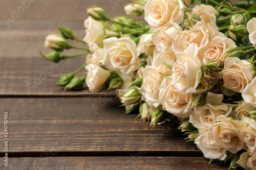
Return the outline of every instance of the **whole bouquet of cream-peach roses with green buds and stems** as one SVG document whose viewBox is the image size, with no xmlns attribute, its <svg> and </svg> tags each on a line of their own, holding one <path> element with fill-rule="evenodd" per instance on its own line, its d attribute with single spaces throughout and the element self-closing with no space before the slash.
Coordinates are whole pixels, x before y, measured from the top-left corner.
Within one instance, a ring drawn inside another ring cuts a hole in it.
<svg viewBox="0 0 256 170">
<path fill-rule="evenodd" d="M 61 35 L 47 36 L 53 52 L 43 56 L 53 62 L 87 55 L 56 85 L 115 90 L 126 113 L 139 110 L 153 127 L 176 122 L 211 161 L 256 169 L 255 2 L 138 0 L 124 10 L 144 20 L 92 7 L 83 40 L 59 26 Z M 61 53 L 71 48 L 85 52 Z M 84 67 L 87 76 L 74 77 Z"/>
</svg>

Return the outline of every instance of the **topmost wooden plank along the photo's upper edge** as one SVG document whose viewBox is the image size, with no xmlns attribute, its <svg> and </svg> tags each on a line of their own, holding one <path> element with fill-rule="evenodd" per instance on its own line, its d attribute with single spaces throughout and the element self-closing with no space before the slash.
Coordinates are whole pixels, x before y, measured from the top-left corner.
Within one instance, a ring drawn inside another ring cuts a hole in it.
<svg viewBox="0 0 256 170">
<path fill-rule="evenodd" d="M 84 20 L 87 17 L 86 8 L 91 5 L 102 7 L 111 17 L 124 15 L 123 4 L 129 0 L 23 0 L 22 4 L 16 0 L 0 0 L 0 19 L 4 17 L 22 20 Z M 10 26 L 12 22 L 10 23 Z"/>
</svg>

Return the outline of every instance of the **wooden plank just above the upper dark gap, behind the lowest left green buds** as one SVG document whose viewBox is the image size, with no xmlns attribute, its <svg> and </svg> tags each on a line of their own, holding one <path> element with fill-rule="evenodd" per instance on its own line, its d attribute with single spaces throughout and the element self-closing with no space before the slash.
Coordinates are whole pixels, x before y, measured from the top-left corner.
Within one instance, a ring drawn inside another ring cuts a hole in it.
<svg viewBox="0 0 256 170">
<path fill-rule="evenodd" d="M 65 60 L 58 65 L 38 58 L 0 58 L 0 95 L 2 96 L 94 96 L 115 95 L 113 91 L 93 94 L 87 87 L 80 91 L 63 91 L 54 86 L 63 74 L 68 74 L 82 66 L 84 57 Z M 82 70 L 77 76 L 86 75 Z M 86 83 L 84 83 L 86 86 Z"/>
</svg>

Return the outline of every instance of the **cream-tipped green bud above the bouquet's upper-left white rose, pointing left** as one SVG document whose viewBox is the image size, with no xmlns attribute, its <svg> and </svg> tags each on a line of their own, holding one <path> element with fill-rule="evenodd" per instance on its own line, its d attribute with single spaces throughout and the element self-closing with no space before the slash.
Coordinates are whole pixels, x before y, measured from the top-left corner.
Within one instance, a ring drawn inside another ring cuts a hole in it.
<svg viewBox="0 0 256 170">
<path fill-rule="evenodd" d="M 93 7 L 93 8 L 88 8 L 87 14 L 90 15 L 93 19 L 95 20 L 104 20 L 104 21 L 109 21 L 110 17 L 105 14 L 104 10 L 99 7 Z"/>
</svg>

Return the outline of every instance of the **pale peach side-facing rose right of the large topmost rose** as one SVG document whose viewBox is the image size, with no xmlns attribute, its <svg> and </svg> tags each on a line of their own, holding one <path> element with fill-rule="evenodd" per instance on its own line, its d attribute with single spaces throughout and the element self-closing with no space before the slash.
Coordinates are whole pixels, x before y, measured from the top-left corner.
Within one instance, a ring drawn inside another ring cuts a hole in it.
<svg viewBox="0 0 256 170">
<path fill-rule="evenodd" d="M 192 12 L 187 12 L 186 15 L 193 15 L 196 14 L 200 16 L 201 20 L 204 20 L 205 22 L 214 22 L 216 23 L 216 13 L 217 10 L 210 6 L 210 5 L 196 5 Z"/>
</svg>

